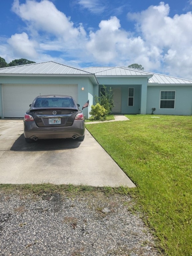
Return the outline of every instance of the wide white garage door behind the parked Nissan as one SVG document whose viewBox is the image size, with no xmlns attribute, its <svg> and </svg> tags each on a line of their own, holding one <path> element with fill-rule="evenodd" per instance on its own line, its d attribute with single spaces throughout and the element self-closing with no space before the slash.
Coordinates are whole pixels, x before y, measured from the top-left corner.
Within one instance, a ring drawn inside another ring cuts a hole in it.
<svg viewBox="0 0 192 256">
<path fill-rule="evenodd" d="M 3 116 L 4 117 L 24 117 L 38 95 L 58 94 L 70 95 L 76 101 L 78 99 L 78 85 L 73 84 L 51 84 L 51 85 L 24 85 L 24 84 L 3 84 Z"/>
</svg>

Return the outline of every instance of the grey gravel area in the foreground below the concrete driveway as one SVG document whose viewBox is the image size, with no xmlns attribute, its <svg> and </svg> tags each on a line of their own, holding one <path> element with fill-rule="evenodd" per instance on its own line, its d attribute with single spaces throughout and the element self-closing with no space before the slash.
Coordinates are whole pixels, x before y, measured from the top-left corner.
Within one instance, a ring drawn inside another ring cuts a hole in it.
<svg viewBox="0 0 192 256">
<path fill-rule="evenodd" d="M 129 196 L 0 192 L 0 255 L 159 256 Z"/>
</svg>

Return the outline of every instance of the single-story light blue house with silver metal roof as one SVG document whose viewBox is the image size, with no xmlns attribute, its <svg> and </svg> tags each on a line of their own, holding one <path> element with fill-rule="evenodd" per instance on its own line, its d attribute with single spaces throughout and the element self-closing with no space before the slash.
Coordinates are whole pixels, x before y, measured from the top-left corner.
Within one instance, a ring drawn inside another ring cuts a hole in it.
<svg viewBox="0 0 192 256">
<path fill-rule="evenodd" d="M 38 95 L 71 95 L 89 117 L 103 85 L 114 93 L 113 113 L 192 115 L 192 81 L 128 67 L 77 69 L 53 61 L 0 69 L 0 116 L 23 117 Z"/>
</svg>

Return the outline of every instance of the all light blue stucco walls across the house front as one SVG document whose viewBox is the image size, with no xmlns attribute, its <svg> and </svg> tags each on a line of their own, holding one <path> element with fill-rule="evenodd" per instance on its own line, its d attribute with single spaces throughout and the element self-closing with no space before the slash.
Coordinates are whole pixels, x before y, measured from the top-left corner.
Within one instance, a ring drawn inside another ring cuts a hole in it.
<svg viewBox="0 0 192 256">
<path fill-rule="evenodd" d="M 121 87 L 121 113 L 162 115 L 192 115 L 192 86 L 191 85 L 148 85 L 147 77 L 97 77 L 99 85 L 90 77 L 56 77 L 56 76 L 1 76 L 0 77 L 0 116 L 3 116 L 2 84 L 77 84 L 78 104 L 80 109 L 89 99 L 90 106 L 83 110 L 88 118 L 91 105 L 95 104 L 94 97 L 98 96 L 103 85 L 111 88 Z M 84 90 L 81 88 L 84 87 Z M 134 106 L 128 106 L 128 88 L 134 88 Z M 160 91 L 176 91 L 174 109 L 160 109 Z M 30 102 L 31 103 L 31 102 Z"/>
</svg>

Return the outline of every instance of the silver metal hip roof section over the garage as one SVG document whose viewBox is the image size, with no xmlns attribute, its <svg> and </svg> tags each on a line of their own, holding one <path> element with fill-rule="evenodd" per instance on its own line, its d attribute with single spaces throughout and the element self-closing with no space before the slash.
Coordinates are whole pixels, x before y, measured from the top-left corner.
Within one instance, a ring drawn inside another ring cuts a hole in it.
<svg viewBox="0 0 192 256">
<path fill-rule="evenodd" d="M 0 74 L 94 75 L 82 69 L 69 67 L 53 61 L 0 68 Z"/>
</svg>

